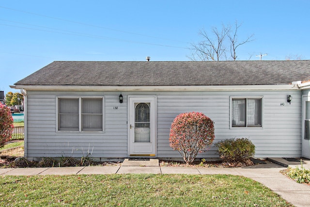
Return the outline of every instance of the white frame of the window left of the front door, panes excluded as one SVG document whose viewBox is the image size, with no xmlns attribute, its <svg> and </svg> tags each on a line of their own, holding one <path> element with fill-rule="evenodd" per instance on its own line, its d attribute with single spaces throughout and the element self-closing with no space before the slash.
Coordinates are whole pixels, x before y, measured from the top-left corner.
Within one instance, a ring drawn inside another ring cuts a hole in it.
<svg viewBox="0 0 310 207">
<path fill-rule="evenodd" d="M 78 99 L 78 130 L 59 130 L 59 99 Z M 102 130 L 100 131 L 83 131 L 82 130 L 82 99 L 102 99 Z M 105 132 L 105 98 L 104 96 L 56 96 L 56 132 Z"/>
</svg>

